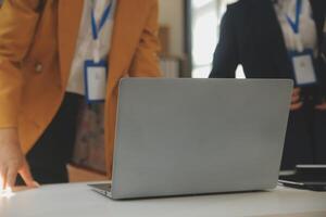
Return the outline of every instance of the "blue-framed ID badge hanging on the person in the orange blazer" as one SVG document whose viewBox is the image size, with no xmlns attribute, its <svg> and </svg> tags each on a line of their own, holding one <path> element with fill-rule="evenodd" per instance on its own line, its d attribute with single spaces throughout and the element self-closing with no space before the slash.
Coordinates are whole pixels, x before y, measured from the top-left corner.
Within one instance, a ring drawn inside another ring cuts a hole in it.
<svg viewBox="0 0 326 217">
<path fill-rule="evenodd" d="M 108 78 L 108 63 L 100 61 L 85 61 L 84 68 L 85 78 L 85 95 L 89 104 L 101 103 L 105 101 L 106 95 L 106 78 Z"/>
</svg>

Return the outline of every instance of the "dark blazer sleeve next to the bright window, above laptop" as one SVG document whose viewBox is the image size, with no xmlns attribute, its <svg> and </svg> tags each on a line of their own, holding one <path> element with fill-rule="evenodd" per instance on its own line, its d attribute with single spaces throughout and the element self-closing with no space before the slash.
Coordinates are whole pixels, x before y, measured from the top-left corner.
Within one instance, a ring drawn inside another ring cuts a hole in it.
<svg viewBox="0 0 326 217">
<path fill-rule="evenodd" d="M 210 78 L 236 77 L 239 58 L 234 25 L 233 15 L 228 9 L 222 18 L 220 41 L 214 52 Z"/>
</svg>

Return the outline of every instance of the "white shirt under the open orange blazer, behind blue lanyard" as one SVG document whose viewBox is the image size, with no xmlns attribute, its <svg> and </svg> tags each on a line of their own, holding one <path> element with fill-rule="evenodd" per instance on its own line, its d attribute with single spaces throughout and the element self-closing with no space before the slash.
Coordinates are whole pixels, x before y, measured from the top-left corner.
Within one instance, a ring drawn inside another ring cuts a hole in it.
<svg viewBox="0 0 326 217">
<path fill-rule="evenodd" d="M 95 9 L 95 17 L 97 25 L 99 25 L 100 20 L 103 15 L 106 7 L 112 4 L 110 16 L 105 22 L 105 25 L 99 33 L 99 43 L 97 46 L 92 38 L 91 31 L 91 10 Z M 113 29 L 113 18 L 116 8 L 115 0 L 85 0 L 84 1 L 84 12 L 79 27 L 79 34 L 76 43 L 75 55 L 72 62 L 71 75 L 67 84 L 66 91 L 85 94 L 84 85 L 84 62 L 86 60 L 93 60 L 93 50 L 99 47 L 100 59 L 108 60 L 108 55 L 111 47 L 111 37 Z"/>
</svg>

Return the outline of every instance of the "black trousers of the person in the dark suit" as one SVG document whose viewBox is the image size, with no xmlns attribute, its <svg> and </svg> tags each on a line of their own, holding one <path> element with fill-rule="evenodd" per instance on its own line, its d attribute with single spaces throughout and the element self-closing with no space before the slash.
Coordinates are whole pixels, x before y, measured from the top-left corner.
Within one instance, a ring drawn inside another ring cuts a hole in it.
<svg viewBox="0 0 326 217">
<path fill-rule="evenodd" d="M 310 97 L 304 105 L 289 116 L 281 169 L 298 164 L 326 164 L 326 112 L 314 108 Z"/>
</svg>

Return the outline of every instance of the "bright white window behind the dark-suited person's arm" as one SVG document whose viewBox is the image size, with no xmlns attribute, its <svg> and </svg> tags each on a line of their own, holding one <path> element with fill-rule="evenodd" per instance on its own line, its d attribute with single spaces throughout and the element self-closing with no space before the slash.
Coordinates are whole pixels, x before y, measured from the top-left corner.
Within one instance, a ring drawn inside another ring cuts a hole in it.
<svg viewBox="0 0 326 217">
<path fill-rule="evenodd" d="M 206 78 L 212 69 L 221 20 L 230 2 L 234 0 L 191 0 L 193 78 Z M 241 66 L 237 69 L 237 77 L 244 78 Z"/>
</svg>

